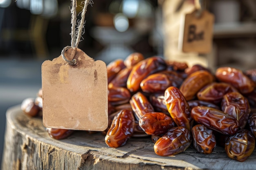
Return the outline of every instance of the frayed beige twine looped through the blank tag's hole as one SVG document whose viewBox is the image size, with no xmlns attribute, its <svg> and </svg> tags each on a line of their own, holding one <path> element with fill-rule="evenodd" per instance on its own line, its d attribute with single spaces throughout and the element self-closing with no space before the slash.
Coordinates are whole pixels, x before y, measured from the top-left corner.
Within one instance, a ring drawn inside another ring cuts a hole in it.
<svg viewBox="0 0 256 170">
<path fill-rule="evenodd" d="M 91 0 L 85 0 L 84 2 L 82 2 L 84 4 L 82 13 L 81 13 L 81 20 L 78 21 L 78 30 L 76 30 L 76 0 L 72 0 L 72 9 L 71 11 L 71 46 L 65 46 L 63 48 L 63 50 L 61 51 L 61 56 L 63 58 L 63 60 L 65 60 L 68 64 L 70 65 L 74 65 L 76 64 L 76 59 L 73 60 L 67 60 L 67 58 L 65 57 L 65 51 L 67 51 L 68 49 L 71 48 L 77 48 L 79 42 L 81 41 L 81 35 L 83 33 L 83 26 L 84 26 L 84 20 L 85 20 L 85 13 L 87 11 L 87 7 L 88 4 L 92 4 Z"/>
</svg>

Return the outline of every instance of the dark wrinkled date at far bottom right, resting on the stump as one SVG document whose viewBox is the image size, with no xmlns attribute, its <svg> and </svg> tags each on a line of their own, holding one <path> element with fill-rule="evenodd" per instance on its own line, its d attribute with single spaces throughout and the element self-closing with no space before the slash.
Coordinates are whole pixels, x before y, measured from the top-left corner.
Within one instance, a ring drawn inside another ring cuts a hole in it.
<svg viewBox="0 0 256 170">
<path fill-rule="evenodd" d="M 255 148 L 255 138 L 252 132 L 243 129 L 229 137 L 225 144 L 227 156 L 236 161 L 245 161 Z"/>
</svg>

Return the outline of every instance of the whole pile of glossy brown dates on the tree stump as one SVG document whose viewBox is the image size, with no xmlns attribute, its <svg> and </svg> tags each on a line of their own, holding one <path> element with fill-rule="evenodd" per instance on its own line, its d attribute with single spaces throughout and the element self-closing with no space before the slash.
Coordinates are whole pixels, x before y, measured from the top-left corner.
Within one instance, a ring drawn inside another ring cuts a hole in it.
<svg viewBox="0 0 256 170">
<path fill-rule="evenodd" d="M 109 147 L 123 146 L 131 137 L 151 136 L 160 156 L 178 154 L 190 145 L 203 154 L 211 154 L 218 145 L 241 162 L 253 153 L 256 69 L 220 67 L 212 73 L 201 65 L 132 53 L 112 61 L 107 71 L 109 126 L 101 133 Z M 22 110 L 35 116 L 41 103 L 25 100 Z M 63 139 L 73 131 L 47 132 Z"/>
</svg>

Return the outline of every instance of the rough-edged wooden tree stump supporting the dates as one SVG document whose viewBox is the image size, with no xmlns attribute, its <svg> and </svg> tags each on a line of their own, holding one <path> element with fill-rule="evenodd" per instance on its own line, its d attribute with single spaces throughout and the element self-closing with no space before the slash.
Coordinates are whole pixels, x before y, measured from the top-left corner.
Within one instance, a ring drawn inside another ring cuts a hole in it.
<svg viewBox="0 0 256 170">
<path fill-rule="evenodd" d="M 7 110 L 2 170 L 253 170 L 256 151 L 245 161 L 227 157 L 224 148 L 212 154 L 186 151 L 161 157 L 150 137 L 131 138 L 119 148 L 109 148 L 100 132 L 75 131 L 67 139 L 49 137 L 42 117 L 29 117 L 20 106 Z M 97 122 L 96 122 L 97 123 Z"/>
</svg>

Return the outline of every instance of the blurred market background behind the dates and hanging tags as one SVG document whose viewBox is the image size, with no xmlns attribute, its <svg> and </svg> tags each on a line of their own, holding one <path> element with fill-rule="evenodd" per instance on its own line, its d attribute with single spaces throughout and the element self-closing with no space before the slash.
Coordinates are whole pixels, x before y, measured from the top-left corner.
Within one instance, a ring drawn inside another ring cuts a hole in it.
<svg viewBox="0 0 256 170">
<path fill-rule="evenodd" d="M 77 0 L 77 13 L 83 6 Z M 213 71 L 256 68 L 256 0 L 200 0 L 215 16 L 209 54 L 177 48 L 180 20 L 194 0 L 94 0 L 79 48 L 108 64 L 132 52 L 202 64 Z M 0 0 L 0 158 L 7 108 L 41 87 L 41 64 L 70 45 L 70 0 Z M 79 19 L 79 17 L 78 17 Z M 1 159 L 0 159 L 1 160 Z"/>
</svg>

